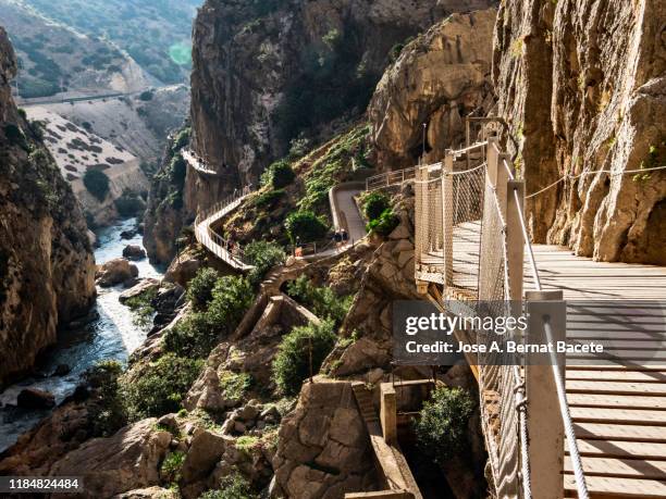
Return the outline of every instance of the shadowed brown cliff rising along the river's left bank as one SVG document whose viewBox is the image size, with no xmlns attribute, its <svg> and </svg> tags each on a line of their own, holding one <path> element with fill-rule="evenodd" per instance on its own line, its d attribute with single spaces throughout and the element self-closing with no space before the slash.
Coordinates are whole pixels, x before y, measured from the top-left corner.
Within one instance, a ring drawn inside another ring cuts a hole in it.
<svg viewBox="0 0 666 499">
<path fill-rule="evenodd" d="M 0 28 L 0 386 L 95 297 L 95 262 L 70 186 L 11 99 L 14 52 Z"/>
</svg>

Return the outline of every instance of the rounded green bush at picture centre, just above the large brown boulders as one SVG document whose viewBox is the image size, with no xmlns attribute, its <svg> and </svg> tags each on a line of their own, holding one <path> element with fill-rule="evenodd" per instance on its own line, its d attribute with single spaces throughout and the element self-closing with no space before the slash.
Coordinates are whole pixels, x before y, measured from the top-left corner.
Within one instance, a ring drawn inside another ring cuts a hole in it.
<svg viewBox="0 0 666 499">
<path fill-rule="evenodd" d="M 309 349 L 312 348 L 312 374 L 317 374 L 326 355 L 335 345 L 333 321 L 321 325 L 294 327 L 284 336 L 273 360 L 273 375 L 280 391 L 295 396 L 303 382 L 310 376 Z"/>
</svg>

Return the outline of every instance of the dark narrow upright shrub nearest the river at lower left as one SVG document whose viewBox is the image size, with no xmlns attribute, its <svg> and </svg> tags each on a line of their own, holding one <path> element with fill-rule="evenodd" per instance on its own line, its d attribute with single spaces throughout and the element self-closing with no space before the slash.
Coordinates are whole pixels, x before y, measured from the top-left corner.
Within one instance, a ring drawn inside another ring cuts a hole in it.
<svg viewBox="0 0 666 499">
<path fill-rule="evenodd" d="M 84 375 L 90 388 L 99 394 L 99 404 L 90 404 L 88 422 L 91 433 L 109 437 L 127 423 L 127 411 L 120 391 L 119 377 L 123 373 L 120 362 L 102 361 Z"/>
</svg>

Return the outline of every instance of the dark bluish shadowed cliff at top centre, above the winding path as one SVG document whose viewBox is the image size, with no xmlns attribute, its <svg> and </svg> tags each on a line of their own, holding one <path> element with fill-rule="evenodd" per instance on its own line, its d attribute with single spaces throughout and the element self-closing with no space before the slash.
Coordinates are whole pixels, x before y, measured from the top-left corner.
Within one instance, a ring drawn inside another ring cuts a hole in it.
<svg viewBox="0 0 666 499">
<path fill-rule="evenodd" d="M 490 3 L 208 0 L 194 28 L 194 148 L 232 180 L 254 182 L 293 139 L 362 113 L 392 48 Z"/>
</svg>

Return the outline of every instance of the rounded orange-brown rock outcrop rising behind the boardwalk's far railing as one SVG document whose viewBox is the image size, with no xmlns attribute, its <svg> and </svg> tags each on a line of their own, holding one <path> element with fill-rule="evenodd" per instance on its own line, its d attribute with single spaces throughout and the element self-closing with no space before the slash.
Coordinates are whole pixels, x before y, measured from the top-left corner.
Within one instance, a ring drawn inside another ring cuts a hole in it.
<svg viewBox="0 0 666 499">
<path fill-rule="evenodd" d="M 418 162 L 423 124 L 425 161 L 440 161 L 465 141 L 465 116 L 491 110 L 495 16 L 488 9 L 447 17 L 408 43 L 384 73 L 368 109 L 383 170 Z"/>
</svg>

